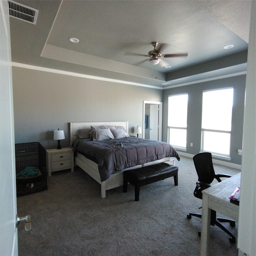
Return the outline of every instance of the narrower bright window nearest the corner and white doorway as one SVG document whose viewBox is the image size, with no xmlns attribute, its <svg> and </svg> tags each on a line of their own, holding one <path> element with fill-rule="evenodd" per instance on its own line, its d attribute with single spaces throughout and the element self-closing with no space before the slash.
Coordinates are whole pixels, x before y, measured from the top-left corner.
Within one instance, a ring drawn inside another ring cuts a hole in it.
<svg viewBox="0 0 256 256">
<path fill-rule="evenodd" d="M 187 114 L 188 114 L 188 94 L 169 96 L 168 98 L 168 142 L 172 144 L 172 146 L 174 146 L 175 148 L 186 149 Z"/>
</svg>

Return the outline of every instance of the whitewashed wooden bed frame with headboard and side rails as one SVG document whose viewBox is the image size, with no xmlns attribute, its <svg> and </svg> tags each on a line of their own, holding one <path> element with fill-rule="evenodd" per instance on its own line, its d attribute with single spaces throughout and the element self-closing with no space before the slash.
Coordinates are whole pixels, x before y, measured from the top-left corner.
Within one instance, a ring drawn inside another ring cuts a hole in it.
<svg viewBox="0 0 256 256">
<path fill-rule="evenodd" d="M 71 122 L 70 123 L 70 147 L 72 147 L 72 143 L 77 139 L 78 130 L 91 128 L 91 126 L 101 126 L 101 125 L 116 125 L 116 126 L 124 126 L 126 131 L 128 132 L 128 122 Z M 125 170 L 140 168 L 141 166 L 146 166 L 150 164 L 155 164 L 157 162 L 168 162 L 170 164 L 175 164 L 174 159 L 170 159 L 170 157 L 163 158 L 161 160 L 157 160 L 154 162 L 134 166 Z M 77 164 L 82 170 L 84 170 L 87 174 L 89 174 L 94 180 L 96 180 L 101 185 L 101 197 L 106 197 L 106 190 L 117 188 L 123 186 L 123 171 L 116 172 L 112 174 L 107 180 L 100 181 L 100 173 L 98 171 L 98 164 L 93 161 L 87 159 L 82 154 L 77 153 L 75 157 L 75 164 Z"/>
</svg>

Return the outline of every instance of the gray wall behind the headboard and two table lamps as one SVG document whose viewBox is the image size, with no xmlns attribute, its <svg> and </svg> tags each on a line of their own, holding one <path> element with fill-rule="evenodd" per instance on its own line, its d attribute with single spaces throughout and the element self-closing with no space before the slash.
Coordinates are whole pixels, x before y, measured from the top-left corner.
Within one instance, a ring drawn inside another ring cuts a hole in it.
<svg viewBox="0 0 256 256">
<path fill-rule="evenodd" d="M 143 101 L 162 102 L 163 90 L 13 67 L 15 143 L 55 148 L 53 131 L 69 122 L 128 121 L 129 134 L 143 124 Z M 140 137 L 142 134 L 140 134 Z"/>
</svg>

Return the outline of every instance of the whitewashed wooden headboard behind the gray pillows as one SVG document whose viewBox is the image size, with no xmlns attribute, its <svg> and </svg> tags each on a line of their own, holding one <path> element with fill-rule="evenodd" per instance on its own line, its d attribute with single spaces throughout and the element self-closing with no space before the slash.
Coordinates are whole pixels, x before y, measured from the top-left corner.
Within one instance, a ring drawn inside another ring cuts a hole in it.
<svg viewBox="0 0 256 256">
<path fill-rule="evenodd" d="M 90 129 L 91 126 L 101 126 L 101 125 L 116 125 L 124 126 L 128 132 L 128 122 L 126 121 L 117 121 L 117 122 L 72 122 L 70 123 L 70 147 L 72 143 L 77 139 L 78 130 L 80 129 Z"/>
</svg>

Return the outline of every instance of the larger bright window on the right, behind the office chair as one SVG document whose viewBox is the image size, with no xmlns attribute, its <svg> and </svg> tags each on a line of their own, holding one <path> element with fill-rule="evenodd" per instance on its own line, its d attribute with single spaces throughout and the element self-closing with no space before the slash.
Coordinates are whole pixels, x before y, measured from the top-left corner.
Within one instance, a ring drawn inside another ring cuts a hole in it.
<svg viewBox="0 0 256 256">
<path fill-rule="evenodd" d="M 202 151 L 230 156 L 233 88 L 203 92 Z"/>
</svg>

